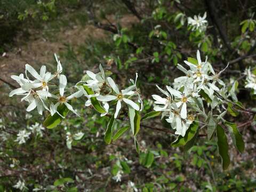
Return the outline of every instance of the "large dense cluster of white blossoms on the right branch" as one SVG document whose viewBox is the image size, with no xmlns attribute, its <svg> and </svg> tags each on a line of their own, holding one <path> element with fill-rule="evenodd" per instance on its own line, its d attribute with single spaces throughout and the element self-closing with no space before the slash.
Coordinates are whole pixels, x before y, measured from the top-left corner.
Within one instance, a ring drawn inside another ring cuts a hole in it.
<svg viewBox="0 0 256 192">
<path fill-rule="evenodd" d="M 216 101 L 218 105 L 218 97 L 215 92 L 221 92 L 217 84 L 225 87 L 225 83 L 219 79 L 220 73 L 215 74 L 211 64 L 206 60 L 203 62 L 199 51 L 197 51 L 196 63 L 184 61 L 189 70 L 178 64 L 178 69 L 185 73 L 174 79 L 173 88 L 166 86 L 167 91 L 157 86 L 165 98 L 153 94 L 156 106 L 154 110 L 162 111 L 162 118 L 167 117 L 166 121 L 171 123 L 175 134 L 185 136 L 189 126 L 195 120 L 198 109 L 195 108 L 196 99 L 201 97 L 202 91 L 207 94 L 212 101 Z"/>
</svg>

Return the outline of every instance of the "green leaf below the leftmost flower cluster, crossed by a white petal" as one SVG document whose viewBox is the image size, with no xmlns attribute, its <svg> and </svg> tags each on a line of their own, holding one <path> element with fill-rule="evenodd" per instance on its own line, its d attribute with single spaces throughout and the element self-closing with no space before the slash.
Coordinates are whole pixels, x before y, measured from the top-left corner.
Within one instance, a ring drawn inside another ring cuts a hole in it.
<svg viewBox="0 0 256 192">
<path fill-rule="evenodd" d="M 58 112 L 63 116 L 66 117 L 68 114 L 69 109 L 66 107 L 66 105 L 59 105 L 58 107 Z M 51 114 L 49 114 L 46 119 L 44 120 L 43 125 L 48 128 L 48 129 L 53 129 L 54 127 L 56 127 L 57 125 L 60 124 L 60 122 L 62 121 L 62 117 L 55 113 L 53 116 L 51 116 Z"/>
</svg>

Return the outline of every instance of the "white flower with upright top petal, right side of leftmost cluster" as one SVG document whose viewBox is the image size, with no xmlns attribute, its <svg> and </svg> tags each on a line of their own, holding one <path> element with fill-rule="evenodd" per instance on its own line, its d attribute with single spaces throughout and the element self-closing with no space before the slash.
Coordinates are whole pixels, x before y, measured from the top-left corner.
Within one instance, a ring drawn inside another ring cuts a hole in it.
<svg viewBox="0 0 256 192">
<path fill-rule="evenodd" d="M 65 87 L 67 85 L 67 77 L 65 75 L 60 75 L 60 85 L 59 85 L 59 92 L 60 95 L 54 95 L 49 93 L 49 97 L 52 97 L 54 99 L 57 99 L 57 102 L 55 104 L 51 103 L 50 105 L 50 111 L 51 111 L 51 115 L 53 116 L 55 113 L 58 113 L 62 118 L 64 118 L 57 110 L 57 108 L 59 107 L 59 105 L 65 105 L 69 110 L 71 110 L 74 114 L 76 114 L 77 116 L 79 116 L 76 111 L 73 109 L 73 107 L 68 103 L 69 100 L 73 99 L 73 98 L 79 98 L 84 94 L 84 89 L 80 86 L 77 86 L 77 88 L 79 89 L 79 91 L 69 95 L 68 97 L 66 97 L 64 95 L 64 91 L 65 91 Z"/>
</svg>

